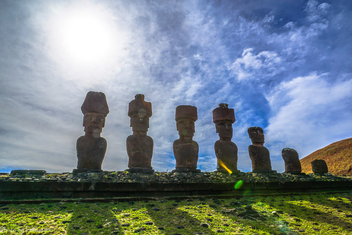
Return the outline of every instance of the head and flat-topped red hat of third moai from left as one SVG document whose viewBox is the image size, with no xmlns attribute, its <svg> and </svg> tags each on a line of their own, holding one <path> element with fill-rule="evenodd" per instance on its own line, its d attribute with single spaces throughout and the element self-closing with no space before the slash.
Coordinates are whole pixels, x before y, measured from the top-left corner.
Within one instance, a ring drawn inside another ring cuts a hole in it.
<svg viewBox="0 0 352 235">
<path fill-rule="evenodd" d="M 178 135 L 194 136 L 197 121 L 197 107 L 191 105 L 179 105 L 176 107 L 175 121 Z"/>
</svg>

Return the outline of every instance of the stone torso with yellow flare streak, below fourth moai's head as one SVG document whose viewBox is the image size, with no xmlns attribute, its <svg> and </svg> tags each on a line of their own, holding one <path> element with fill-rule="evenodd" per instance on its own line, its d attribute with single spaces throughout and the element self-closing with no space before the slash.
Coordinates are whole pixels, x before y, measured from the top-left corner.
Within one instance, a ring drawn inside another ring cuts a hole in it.
<svg viewBox="0 0 352 235">
<path fill-rule="evenodd" d="M 238 148 L 234 142 L 217 140 L 214 144 L 214 150 L 216 158 L 218 159 L 217 170 L 225 169 L 224 166 L 219 163 L 219 160 L 231 171 L 237 170 Z"/>
</svg>

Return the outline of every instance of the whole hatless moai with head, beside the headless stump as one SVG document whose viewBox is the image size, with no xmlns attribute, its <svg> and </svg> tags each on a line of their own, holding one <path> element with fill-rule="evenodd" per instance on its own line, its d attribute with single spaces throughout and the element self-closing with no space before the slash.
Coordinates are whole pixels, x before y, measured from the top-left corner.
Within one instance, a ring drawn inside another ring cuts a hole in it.
<svg viewBox="0 0 352 235">
<path fill-rule="evenodd" d="M 264 147 L 264 132 L 261 127 L 248 128 L 248 135 L 252 144 L 248 146 L 249 157 L 252 160 L 253 173 L 270 173 L 271 170 L 270 153 Z"/>
</svg>

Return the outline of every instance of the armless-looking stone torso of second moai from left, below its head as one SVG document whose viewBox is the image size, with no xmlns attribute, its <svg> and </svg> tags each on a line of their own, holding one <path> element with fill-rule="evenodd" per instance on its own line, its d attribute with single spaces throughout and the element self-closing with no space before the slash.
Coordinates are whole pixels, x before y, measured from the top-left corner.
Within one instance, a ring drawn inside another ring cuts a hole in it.
<svg viewBox="0 0 352 235">
<path fill-rule="evenodd" d="M 126 139 L 128 168 L 141 167 L 152 169 L 153 139 L 148 135 L 133 134 Z"/>
</svg>

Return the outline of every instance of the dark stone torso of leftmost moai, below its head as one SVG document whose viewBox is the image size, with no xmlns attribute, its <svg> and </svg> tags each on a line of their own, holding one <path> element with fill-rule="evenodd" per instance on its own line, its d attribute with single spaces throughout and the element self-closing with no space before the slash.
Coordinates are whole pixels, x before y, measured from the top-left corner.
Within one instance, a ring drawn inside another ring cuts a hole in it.
<svg viewBox="0 0 352 235">
<path fill-rule="evenodd" d="M 99 137 L 81 136 L 77 139 L 77 168 L 101 169 L 101 164 L 105 157 L 107 142 Z"/>
</svg>

